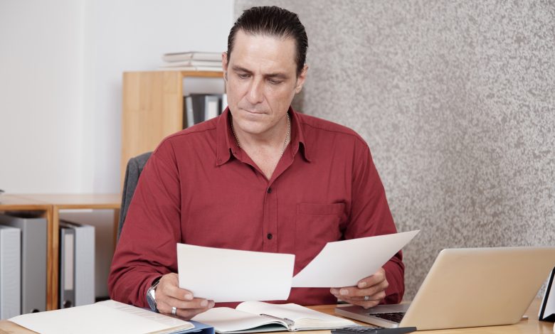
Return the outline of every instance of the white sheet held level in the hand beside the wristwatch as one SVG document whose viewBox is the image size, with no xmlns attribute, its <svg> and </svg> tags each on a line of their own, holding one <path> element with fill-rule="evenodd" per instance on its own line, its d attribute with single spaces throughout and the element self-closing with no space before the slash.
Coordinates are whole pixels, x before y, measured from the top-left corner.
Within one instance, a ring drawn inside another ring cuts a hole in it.
<svg viewBox="0 0 555 334">
<path fill-rule="evenodd" d="M 177 244 L 179 287 L 216 302 L 285 300 L 294 266 L 293 254 Z"/>
</svg>

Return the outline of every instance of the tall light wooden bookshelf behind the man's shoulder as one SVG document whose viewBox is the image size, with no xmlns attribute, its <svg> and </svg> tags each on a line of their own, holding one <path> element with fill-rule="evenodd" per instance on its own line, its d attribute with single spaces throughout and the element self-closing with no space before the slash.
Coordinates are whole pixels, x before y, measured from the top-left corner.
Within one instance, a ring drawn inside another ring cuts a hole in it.
<svg viewBox="0 0 555 334">
<path fill-rule="evenodd" d="M 165 136 L 183 129 L 185 77 L 222 78 L 223 72 L 123 73 L 121 184 L 129 158 L 153 151 Z"/>
</svg>

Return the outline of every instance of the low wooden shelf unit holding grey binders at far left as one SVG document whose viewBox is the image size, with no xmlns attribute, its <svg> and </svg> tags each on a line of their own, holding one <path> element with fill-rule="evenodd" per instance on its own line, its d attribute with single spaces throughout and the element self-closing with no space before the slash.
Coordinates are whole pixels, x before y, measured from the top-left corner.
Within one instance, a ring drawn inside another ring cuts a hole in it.
<svg viewBox="0 0 555 334">
<path fill-rule="evenodd" d="M 46 217 L 46 309 L 58 308 L 58 252 L 60 210 L 112 209 L 114 231 L 120 216 L 120 194 L 4 194 L 0 195 L 0 211 L 37 211 Z M 116 235 L 116 234 L 115 234 Z M 1 334 L 1 331 L 0 331 Z"/>
</svg>

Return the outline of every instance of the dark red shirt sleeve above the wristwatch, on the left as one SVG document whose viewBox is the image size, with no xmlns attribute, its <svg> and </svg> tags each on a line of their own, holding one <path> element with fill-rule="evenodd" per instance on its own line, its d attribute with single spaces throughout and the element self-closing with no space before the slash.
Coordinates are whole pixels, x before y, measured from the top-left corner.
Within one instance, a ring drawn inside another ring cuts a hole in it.
<svg viewBox="0 0 555 334">
<path fill-rule="evenodd" d="M 139 178 L 112 259 L 110 298 L 147 307 L 152 282 L 177 272 L 181 241 L 179 175 L 168 141 L 152 153 Z"/>
</svg>

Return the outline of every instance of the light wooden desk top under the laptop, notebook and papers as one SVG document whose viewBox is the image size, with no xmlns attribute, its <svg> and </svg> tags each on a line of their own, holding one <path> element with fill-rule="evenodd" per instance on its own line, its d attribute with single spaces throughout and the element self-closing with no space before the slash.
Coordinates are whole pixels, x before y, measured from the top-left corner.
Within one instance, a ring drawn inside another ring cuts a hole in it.
<svg viewBox="0 0 555 334">
<path fill-rule="evenodd" d="M 458 329 L 448 329 L 448 330 L 422 330 L 417 333 L 428 333 L 428 334 L 553 334 L 553 323 L 546 323 L 544 321 L 538 321 L 538 310 L 540 299 L 536 299 L 532 302 L 532 305 L 526 311 L 528 320 L 521 320 L 519 323 L 514 325 L 504 325 L 504 326 L 490 326 L 490 327 L 476 327 L 476 328 L 458 328 Z M 322 306 L 310 306 L 310 308 L 329 314 L 334 314 L 335 305 L 322 305 Z M 7 333 L 35 333 L 31 330 L 23 328 L 15 323 L 11 323 L 8 320 L 0 320 L 0 334 Z M 291 332 L 270 332 L 276 334 L 290 334 Z M 329 334 L 329 330 L 304 330 L 299 333 L 306 334 Z"/>
</svg>

